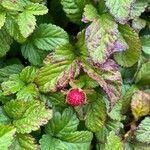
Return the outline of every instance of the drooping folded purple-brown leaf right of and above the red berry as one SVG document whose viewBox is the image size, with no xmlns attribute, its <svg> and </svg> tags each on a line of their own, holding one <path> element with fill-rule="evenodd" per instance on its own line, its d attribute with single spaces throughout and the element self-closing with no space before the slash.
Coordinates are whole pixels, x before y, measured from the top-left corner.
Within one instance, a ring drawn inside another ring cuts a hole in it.
<svg viewBox="0 0 150 150">
<path fill-rule="evenodd" d="M 84 72 L 103 88 L 110 100 L 110 109 L 120 99 L 122 79 L 116 64 L 109 60 L 105 65 L 95 66 L 90 65 L 85 60 L 80 62 Z M 108 82 L 109 81 L 109 82 Z"/>
</svg>

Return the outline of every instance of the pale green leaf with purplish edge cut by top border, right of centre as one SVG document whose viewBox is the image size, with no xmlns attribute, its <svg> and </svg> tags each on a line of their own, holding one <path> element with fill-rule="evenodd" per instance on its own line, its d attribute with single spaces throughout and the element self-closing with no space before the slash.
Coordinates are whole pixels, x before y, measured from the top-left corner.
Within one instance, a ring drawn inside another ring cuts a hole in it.
<svg viewBox="0 0 150 150">
<path fill-rule="evenodd" d="M 125 24 L 130 19 L 134 0 L 106 0 L 105 4 L 116 20 L 121 24 Z"/>
</svg>

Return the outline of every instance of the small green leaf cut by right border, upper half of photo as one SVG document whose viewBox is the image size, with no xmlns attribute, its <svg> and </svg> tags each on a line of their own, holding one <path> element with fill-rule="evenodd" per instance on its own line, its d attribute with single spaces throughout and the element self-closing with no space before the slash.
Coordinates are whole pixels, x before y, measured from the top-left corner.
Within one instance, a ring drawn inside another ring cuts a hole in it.
<svg viewBox="0 0 150 150">
<path fill-rule="evenodd" d="M 149 35 L 141 37 L 142 50 L 148 56 L 150 56 L 150 40 L 149 40 L 149 38 L 150 38 Z"/>
</svg>

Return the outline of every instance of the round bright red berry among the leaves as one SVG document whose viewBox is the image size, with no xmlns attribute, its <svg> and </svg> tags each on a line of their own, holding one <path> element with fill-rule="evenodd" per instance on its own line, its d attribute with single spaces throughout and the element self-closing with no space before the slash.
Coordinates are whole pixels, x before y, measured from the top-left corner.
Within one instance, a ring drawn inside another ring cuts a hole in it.
<svg viewBox="0 0 150 150">
<path fill-rule="evenodd" d="M 85 102 L 86 95 L 81 89 L 72 89 L 67 94 L 67 103 L 71 106 L 79 106 Z"/>
</svg>

